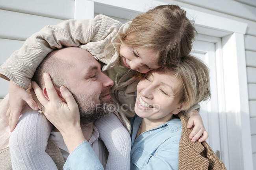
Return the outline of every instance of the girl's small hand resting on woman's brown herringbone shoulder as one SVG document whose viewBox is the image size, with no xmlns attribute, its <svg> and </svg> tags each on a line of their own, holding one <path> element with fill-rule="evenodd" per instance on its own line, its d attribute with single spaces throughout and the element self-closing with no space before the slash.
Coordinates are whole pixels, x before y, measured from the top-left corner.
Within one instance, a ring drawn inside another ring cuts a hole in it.
<svg viewBox="0 0 256 170">
<path fill-rule="evenodd" d="M 204 124 L 202 121 L 202 117 L 200 116 L 197 110 L 193 110 L 189 113 L 189 120 L 187 122 L 187 128 L 193 128 L 192 132 L 189 135 L 189 139 L 194 143 L 198 140 L 198 142 L 204 142 L 208 138 L 208 132 L 206 132 L 204 128 Z"/>
</svg>

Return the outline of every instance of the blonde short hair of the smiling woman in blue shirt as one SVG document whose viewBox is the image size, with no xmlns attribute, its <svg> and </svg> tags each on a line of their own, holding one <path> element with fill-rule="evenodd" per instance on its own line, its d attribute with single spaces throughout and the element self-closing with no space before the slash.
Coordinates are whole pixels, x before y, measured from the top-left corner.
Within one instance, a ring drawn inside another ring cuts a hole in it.
<svg viewBox="0 0 256 170">
<path fill-rule="evenodd" d="M 182 110 L 186 111 L 194 104 L 205 101 L 210 98 L 210 77 L 209 69 L 201 60 L 191 55 L 181 58 L 175 68 L 157 69 L 164 73 L 174 74 L 182 84 L 180 90 Z M 137 80 L 145 79 L 150 72 L 142 74 L 136 73 L 134 78 Z M 178 94 L 180 94 L 178 93 Z"/>
</svg>

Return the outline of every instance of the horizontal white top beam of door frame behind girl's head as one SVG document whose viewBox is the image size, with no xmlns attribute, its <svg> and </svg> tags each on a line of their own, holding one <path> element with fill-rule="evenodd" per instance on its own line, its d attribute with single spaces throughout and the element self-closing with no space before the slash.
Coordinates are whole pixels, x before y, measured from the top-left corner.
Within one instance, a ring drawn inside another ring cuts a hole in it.
<svg viewBox="0 0 256 170">
<path fill-rule="evenodd" d="M 118 13 L 116 13 L 115 10 L 120 10 L 120 8 L 122 8 L 123 11 L 127 11 L 127 10 L 129 12 L 133 11 L 135 14 L 137 14 L 138 12 L 145 12 L 148 9 L 151 9 L 158 5 L 167 4 L 164 2 L 159 2 L 157 0 L 140 0 L 139 3 L 137 2 L 137 0 L 129 0 L 129 1 L 91 0 L 91 1 L 112 6 L 113 10 L 108 11 L 108 15 L 110 16 L 116 16 Z M 196 11 L 193 9 L 188 9 L 183 7 L 182 9 L 187 11 L 187 17 L 191 20 L 195 20 L 195 26 L 200 27 L 200 29 L 211 28 L 212 30 L 216 30 L 216 31 L 224 31 L 225 35 L 228 35 L 233 32 L 242 33 L 242 34 L 245 34 L 246 32 L 247 23 L 238 22 L 236 20 L 231 20 L 228 18 Z M 130 19 L 130 17 L 128 16 L 128 18 L 125 18 L 125 19 Z M 205 32 L 204 29 L 202 30 L 202 32 L 199 32 L 199 33 L 203 34 L 203 32 Z M 220 36 L 217 35 L 217 37 L 223 37 L 223 34 L 221 34 Z"/>
</svg>

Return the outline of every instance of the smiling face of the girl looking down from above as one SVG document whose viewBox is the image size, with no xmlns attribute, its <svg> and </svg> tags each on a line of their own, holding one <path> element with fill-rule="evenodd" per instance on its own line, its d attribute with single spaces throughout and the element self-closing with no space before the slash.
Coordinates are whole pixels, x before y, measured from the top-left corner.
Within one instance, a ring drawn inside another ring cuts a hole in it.
<svg viewBox="0 0 256 170">
<path fill-rule="evenodd" d="M 158 66 L 158 53 L 151 48 L 131 48 L 121 45 L 119 49 L 121 65 L 126 68 L 135 69 L 140 73 L 147 73 Z"/>
</svg>

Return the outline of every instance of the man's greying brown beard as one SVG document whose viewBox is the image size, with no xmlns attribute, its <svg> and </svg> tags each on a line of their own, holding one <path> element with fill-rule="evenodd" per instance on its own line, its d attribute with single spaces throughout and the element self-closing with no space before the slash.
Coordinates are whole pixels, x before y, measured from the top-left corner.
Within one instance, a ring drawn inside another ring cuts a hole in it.
<svg viewBox="0 0 256 170">
<path fill-rule="evenodd" d="M 75 101 L 78 104 L 81 125 L 89 125 L 109 113 L 107 109 L 107 103 L 110 103 L 110 100 L 103 101 L 101 99 L 102 96 L 109 93 L 109 89 L 102 91 L 100 94 L 95 93 L 92 95 L 72 93 Z"/>
</svg>

